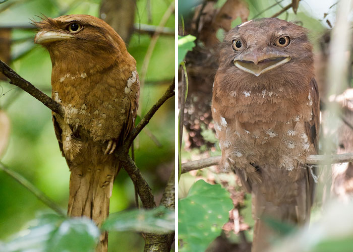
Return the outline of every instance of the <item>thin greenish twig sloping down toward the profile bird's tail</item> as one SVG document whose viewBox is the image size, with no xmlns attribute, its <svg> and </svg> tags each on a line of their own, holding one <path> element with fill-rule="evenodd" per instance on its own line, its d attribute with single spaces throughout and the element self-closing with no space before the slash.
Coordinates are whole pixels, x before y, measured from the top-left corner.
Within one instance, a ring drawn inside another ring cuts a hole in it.
<svg viewBox="0 0 353 252">
<path fill-rule="evenodd" d="M 58 215 L 61 215 L 64 217 L 66 216 L 65 212 L 63 212 L 63 210 L 58 205 L 56 205 L 55 202 L 53 202 L 51 199 L 49 199 L 48 196 L 46 196 L 42 191 L 40 191 L 37 187 L 35 187 L 30 181 L 28 181 L 20 173 L 17 173 L 16 171 L 13 171 L 13 170 L 10 170 L 2 162 L 0 162 L 0 169 L 5 171 L 7 174 L 9 174 L 14 179 L 16 179 L 20 184 L 22 184 L 24 187 L 26 187 L 28 191 L 30 191 L 32 194 L 34 194 L 34 196 L 37 197 L 38 200 L 43 202 L 45 205 L 47 205 L 49 208 L 51 208 L 53 211 L 55 211 Z"/>
</svg>

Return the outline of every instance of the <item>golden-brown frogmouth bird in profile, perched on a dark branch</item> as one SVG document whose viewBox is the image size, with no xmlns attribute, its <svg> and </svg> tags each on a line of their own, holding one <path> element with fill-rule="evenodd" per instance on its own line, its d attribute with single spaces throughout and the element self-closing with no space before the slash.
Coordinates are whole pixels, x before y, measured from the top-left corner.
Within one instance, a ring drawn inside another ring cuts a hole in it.
<svg viewBox="0 0 353 252">
<path fill-rule="evenodd" d="M 139 78 L 122 38 L 104 21 L 67 15 L 35 22 L 34 42 L 51 58 L 52 98 L 65 117 L 53 113 L 56 138 L 70 167 L 68 215 L 87 216 L 98 226 L 109 214 L 113 153 L 134 127 Z M 96 251 L 106 251 L 107 233 Z"/>
</svg>

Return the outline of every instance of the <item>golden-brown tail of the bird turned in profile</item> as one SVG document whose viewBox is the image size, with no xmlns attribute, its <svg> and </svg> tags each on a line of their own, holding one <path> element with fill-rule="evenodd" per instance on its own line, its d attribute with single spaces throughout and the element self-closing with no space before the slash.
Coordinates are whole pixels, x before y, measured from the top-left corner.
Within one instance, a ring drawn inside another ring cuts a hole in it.
<svg viewBox="0 0 353 252">
<path fill-rule="evenodd" d="M 114 167 L 104 163 L 71 165 L 69 216 L 87 216 L 101 226 L 109 215 L 109 199 L 116 175 Z M 96 252 L 107 251 L 108 232 L 102 233 L 99 239 Z"/>
</svg>

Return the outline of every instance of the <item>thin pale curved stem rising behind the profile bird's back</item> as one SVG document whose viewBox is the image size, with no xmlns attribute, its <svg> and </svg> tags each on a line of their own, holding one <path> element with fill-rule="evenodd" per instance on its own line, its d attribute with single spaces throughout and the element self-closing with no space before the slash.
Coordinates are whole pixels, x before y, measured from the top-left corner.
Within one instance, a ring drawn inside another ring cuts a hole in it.
<svg viewBox="0 0 353 252">
<path fill-rule="evenodd" d="M 145 58 L 143 59 L 142 68 L 141 68 L 141 72 L 140 72 L 140 86 L 141 86 L 141 88 L 143 88 L 143 85 L 145 83 L 147 69 L 148 69 L 148 65 L 149 65 L 149 62 L 150 62 L 150 59 L 152 56 L 153 49 L 157 43 L 157 40 L 161 34 L 161 31 L 163 30 L 163 27 L 165 26 L 166 22 L 168 21 L 169 17 L 171 16 L 171 14 L 173 14 L 174 8 L 175 7 L 174 7 L 174 1 L 173 1 L 169 5 L 168 9 L 165 11 L 162 19 L 160 20 L 160 22 L 156 28 L 155 33 L 153 34 L 153 36 L 151 38 L 150 44 L 148 45 L 147 52 L 146 52 Z"/>
</svg>

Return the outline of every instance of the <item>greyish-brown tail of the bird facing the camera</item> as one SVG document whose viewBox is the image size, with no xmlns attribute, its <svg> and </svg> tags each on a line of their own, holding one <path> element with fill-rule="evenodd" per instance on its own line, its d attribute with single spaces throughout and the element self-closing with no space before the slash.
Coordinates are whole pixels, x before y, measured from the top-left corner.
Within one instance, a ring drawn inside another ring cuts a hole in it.
<svg viewBox="0 0 353 252">
<path fill-rule="evenodd" d="M 272 173 L 270 178 L 267 171 L 262 170 L 265 179 L 259 184 L 253 184 L 252 210 L 255 226 L 252 252 L 266 251 L 271 242 L 285 235 L 283 229 L 270 226 L 272 220 L 302 225 L 310 219 L 313 185 L 309 182 L 307 169 L 301 168 L 298 171 L 295 174 L 278 169 L 277 174 Z"/>
</svg>

